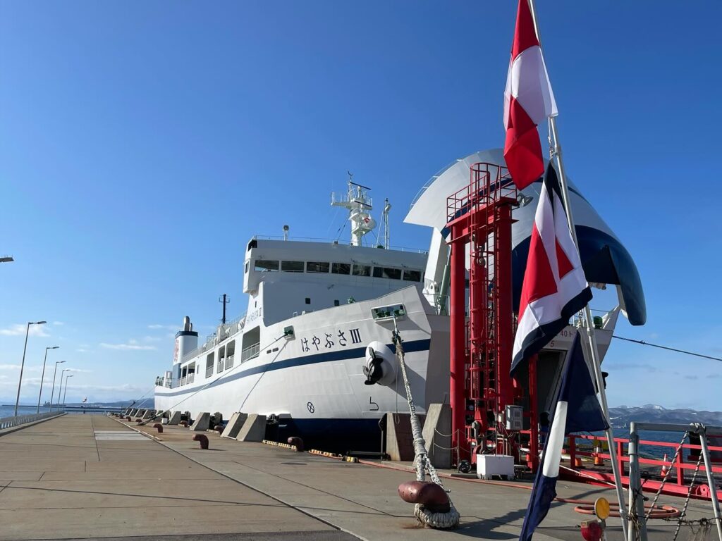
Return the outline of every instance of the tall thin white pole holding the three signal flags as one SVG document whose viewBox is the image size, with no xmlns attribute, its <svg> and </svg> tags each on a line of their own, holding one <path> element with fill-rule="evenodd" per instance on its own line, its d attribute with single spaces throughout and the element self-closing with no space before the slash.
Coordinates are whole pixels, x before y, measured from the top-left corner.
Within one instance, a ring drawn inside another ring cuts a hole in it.
<svg viewBox="0 0 722 541">
<path fill-rule="evenodd" d="M 529 11 L 531 19 L 534 20 L 534 30 L 536 31 L 536 39 L 539 40 L 539 48 L 541 48 L 541 37 L 539 36 L 539 25 L 536 21 L 536 10 L 534 9 L 534 0 L 529 1 Z M 542 49 L 543 50 L 543 49 Z M 543 58 L 543 56 L 542 56 Z M 559 172 L 559 182 L 562 188 L 562 198 L 567 211 L 567 223 L 572 234 L 574 245 L 579 251 L 579 241 L 574 226 L 574 216 L 572 214 L 572 206 L 569 201 L 569 190 L 567 189 L 567 177 L 564 170 L 564 162 L 562 161 L 562 146 L 559 142 L 559 133 L 557 132 L 557 115 L 549 117 L 549 157 L 557 162 L 557 172 Z M 619 517 L 622 519 L 622 533 L 627 538 L 627 514 L 625 506 L 624 489 L 622 488 L 622 472 L 619 471 L 619 462 L 617 462 L 617 448 L 614 445 L 614 430 L 609 419 L 609 407 L 606 403 L 606 391 L 604 390 L 604 377 L 601 374 L 601 361 L 599 359 L 599 347 L 596 342 L 596 334 L 592 325 L 591 310 L 589 304 L 584 307 L 584 320 L 586 326 L 586 334 L 588 339 L 589 350 L 591 351 L 591 364 L 594 371 L 594 379 L 596 380 L 596 388 L 599 391 L 599 401 L 601 410 L 604 413 L 609 428 L 606 429 L 606 441 L 609 444 L 609 459 L 612 462 L 612 472 L 614 473 L 614 485 L 617 489 L 617 500 L 619 501 Z"/>
</svg>

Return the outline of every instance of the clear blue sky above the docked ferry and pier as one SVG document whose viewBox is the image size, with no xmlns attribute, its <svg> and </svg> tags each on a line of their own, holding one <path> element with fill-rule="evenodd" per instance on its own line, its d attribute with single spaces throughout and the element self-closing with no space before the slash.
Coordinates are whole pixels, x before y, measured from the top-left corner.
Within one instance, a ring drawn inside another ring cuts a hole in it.
<svg viewBox="0 0 722 541">
<path fill-rule="evenodd" d="M 635 258 L 644 327 L 722 356 L 722 4 L 539 1 L 570 176 Z M 49 360 L 68 399 L 134 398 L 245 310 L 253 234 L 334 237 L 346 171 L 401 223 L 453 159 L 503 145 L 513 1 L 0 1 L 0 399 Z M 18 327 L 20 325 L 20 327 Z M 18 330 L 19 329 L 19 330 Z M 722 410 L 722 364 L 614 343 L 611 405 Z"/>
</svg>

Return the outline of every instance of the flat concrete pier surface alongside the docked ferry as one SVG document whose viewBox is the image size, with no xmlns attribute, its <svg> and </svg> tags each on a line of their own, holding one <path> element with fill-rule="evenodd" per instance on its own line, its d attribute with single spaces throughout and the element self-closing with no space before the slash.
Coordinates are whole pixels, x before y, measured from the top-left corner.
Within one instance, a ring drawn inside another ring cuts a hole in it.
<svg viewBox="0 0 722 541">
<path fill-rule="evenodd" d="M 529 501 L 528 482 L 445 479 L 461 527 L 425 529 L 396 493 L 412 472 L 210 432 L 202 450 L 187 428 L 139 430 L 104 415 L 64 415 L 0 436 L 0 540 L 513 540 Z M 557 493 L 614 501 L 607 488 L 563 480 Z M 682 509 L 684 501 L 660 503 Z M 578 525 L 593 517 L 574 507 L 555 502 L 534 539 L 580 540 Z M 687 519 L 705 516 L 710 504 L 690 501 Z M 608 522 L 608 538 L 621 539 L 619 519 Z M 649 537 L 670 539 L 675 527 L 651 521 Z"/>
</svg>

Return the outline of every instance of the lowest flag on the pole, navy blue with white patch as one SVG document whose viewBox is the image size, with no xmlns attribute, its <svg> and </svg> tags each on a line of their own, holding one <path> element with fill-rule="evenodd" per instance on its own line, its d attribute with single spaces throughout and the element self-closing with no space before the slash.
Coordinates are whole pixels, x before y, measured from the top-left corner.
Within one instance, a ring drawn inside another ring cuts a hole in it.
<svg viewBox="0 0 722 541">
<path fill-rule="evenodd" d="M 549 512 L 549 506 L 557 497 L 557 478 L 562 459 L 564 436 L 572 432 L 603 431 L 609 424 L 601 411 L 596 390 L 584 361 L 579 331 L 564 361 L 564 374 L 557 397 L 557 408 L 549 427 L 544 455 L 536 472 L 529 506 L 521 526 L 520 541 L 530 541 L 534 530 Z"/>
</svg>

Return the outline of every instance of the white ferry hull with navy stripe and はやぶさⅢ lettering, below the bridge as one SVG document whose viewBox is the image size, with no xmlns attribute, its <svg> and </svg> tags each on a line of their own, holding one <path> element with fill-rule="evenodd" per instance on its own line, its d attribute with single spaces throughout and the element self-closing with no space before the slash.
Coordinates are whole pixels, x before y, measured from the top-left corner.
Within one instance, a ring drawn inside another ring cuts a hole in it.
<svg viewBox="0 0 722 541">
<path fill-rule="evenodd" d="M 329 430 L 378 433 L 383 415 L 408 409 L 400 377 L 387 385 L 367 385 L 363 372 L 368 344 L 377 341 L 393 351 L 393 321 L 371 316 L 373 307 L 392 304 L 406 309 L 397 325 L 414 400 L 423 413 L 427 403 L 448 401 L 448 318 L 435 315 L 415 286 L 261 325 L 257 357 L 207 379 L 201 369 L 182 387 L 156 387 L 155 408 L 189 411 L 193 417 L 220 412 L 230 418 L 237 411 L 277 415 L 307 437 Z M 290 325 L 294 335 L 284 338 Z M 205 355 L 198 356 L 199 363 Z"/>
</svg>

